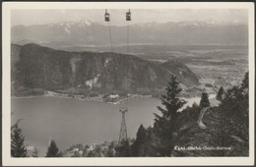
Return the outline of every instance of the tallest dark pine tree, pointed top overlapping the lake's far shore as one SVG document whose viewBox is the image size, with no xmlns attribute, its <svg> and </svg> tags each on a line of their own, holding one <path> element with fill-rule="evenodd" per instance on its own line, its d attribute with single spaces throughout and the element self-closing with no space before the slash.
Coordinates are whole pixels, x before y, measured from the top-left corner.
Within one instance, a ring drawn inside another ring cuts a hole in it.
<svg viewBox="0 0 256 167">
<path fill-rule="evenodd" d="M 165 108 L 158 106 L 161 116 L 155 113 L 154 130 L 160 139 L 160 145 L 158 146 L 160 156 L 170 156 L 173 150 L 173 135 L 177 131 L 177 111 L 186 103 L 186 101 L 177 97 L 182 90 L 178 87 L 178 84 L 176 77 L 172 77 L 171 82 L 166 87 L 166 94 L 161 95 L 160 98 L 161 104 Z"/>
</svg>

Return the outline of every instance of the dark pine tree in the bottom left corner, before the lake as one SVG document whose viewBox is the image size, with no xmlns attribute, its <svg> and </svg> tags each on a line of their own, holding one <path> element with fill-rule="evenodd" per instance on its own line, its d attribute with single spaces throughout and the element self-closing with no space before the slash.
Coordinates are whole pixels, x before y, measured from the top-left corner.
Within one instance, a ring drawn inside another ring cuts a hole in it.
<svg viewBox="0 0 256 167">
<path fill-rule="evenodd" d="M 19 127 L 18 120 L 11 128 L 11 155 L 13 157 L 27 157 L 27 149 L 24 144 L 25 137 L 22 129 Z"/>
</svg>

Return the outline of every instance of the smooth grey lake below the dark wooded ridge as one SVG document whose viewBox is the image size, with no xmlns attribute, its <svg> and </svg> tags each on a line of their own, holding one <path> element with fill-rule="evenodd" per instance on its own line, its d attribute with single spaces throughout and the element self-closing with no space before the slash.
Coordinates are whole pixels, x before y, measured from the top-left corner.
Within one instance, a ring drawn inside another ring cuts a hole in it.
<svg viewBox="0 0 256 167">
<path fill-rule="evenodd" d="M 210 96 L 211 97 L 211 96 Z M 186 98 L 187 105 L 200 97 Z M 48 142 L 54 139 L 61 150 L 72 144 L 93 144 L 118 140 L 121 113 L 118 105 L 75 98 L 31 97 L 12 98 L 12 124 L 23 119 L 20 126 L 26 144 L 39 149 L 44 156 Z M 126 126 L 128 137 L 135 138 L 138 128 L 153 125 L 154 114 L 160 113 L 160 100 L 149 97 L 127 99 Z"/>
</svg>

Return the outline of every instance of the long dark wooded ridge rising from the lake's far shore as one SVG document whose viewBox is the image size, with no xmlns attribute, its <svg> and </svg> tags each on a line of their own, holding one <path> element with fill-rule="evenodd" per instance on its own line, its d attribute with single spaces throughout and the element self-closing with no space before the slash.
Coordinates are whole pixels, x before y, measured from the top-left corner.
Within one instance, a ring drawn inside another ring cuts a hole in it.
<svg viewBox="0 0 256 167">
<path fill-rule="evenodd" d="M 133 55 L 112 52 L 68 52 L 12 44 L 12 88 L 153 93 L 164 89 L 175 75 L 182 86 L 198 83 L 197 76 L 177 61 L 157 64 Z"/>
</svg>

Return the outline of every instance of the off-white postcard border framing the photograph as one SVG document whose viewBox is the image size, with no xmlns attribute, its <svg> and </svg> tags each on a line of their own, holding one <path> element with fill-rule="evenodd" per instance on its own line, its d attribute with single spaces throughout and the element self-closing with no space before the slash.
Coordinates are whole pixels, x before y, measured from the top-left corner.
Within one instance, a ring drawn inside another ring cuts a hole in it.
<svg viewBox="0 0 256 167">
<path fill-rule="evenodd" d="M 3 2 L 2 4 L 2 142 L 4 166 L 156 166 L 254 165 L 254 3 L 252 2 Z M 151 158 L 11 158 L 10 156 L 10 28 L 12 9 L 248 9 L 249 12 L 249 157 Z"/>
</svg>

